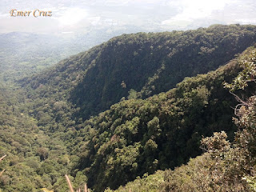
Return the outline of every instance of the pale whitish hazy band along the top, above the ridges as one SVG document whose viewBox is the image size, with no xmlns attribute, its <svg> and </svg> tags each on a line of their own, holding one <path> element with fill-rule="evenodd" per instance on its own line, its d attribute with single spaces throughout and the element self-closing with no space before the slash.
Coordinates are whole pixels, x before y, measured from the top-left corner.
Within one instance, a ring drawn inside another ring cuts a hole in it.
<svg viewBox="0 0 256 192">
<path fill-rule="evenodd" d="M 188 30 L 212 24 L 256 25 L 255 0 L 0 0 L 0 33 L 83 33 L 89 29 Z M 10 10 L 51 17 L 10 17 Z"/>
</svg>

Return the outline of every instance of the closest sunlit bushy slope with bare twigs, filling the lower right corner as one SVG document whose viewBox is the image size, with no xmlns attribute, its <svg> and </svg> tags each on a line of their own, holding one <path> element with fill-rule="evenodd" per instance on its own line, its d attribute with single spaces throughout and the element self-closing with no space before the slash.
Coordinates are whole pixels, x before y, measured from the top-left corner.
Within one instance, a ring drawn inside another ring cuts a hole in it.
<svg viewBox="0 0 256 192">
<path fill-rule="evenodd" d="M 206 153 L 190 159 L 187 165 L 175 170 L 158 170 L 150 176 L 144 174 L 116 191 L 255 191 L 255 58 L 256 45 L 238 58 L 242 71 L 231 84 L 225 83 L 239 101 L 234 109 L 233 119 L 238 130 L 233 142 L 227 139 L 222 128 L 221 132 L 202 138 L 201 148 Z"/>
</svg>

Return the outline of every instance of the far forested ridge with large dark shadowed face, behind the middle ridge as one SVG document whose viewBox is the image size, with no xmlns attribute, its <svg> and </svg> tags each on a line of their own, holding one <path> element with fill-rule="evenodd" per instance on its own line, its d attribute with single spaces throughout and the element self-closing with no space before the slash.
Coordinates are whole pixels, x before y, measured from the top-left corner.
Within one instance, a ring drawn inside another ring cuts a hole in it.
<svg viewBox="0 0 256 192">
<path fill-rule="evenodd" d="M 23 83 L 30 83 L 41 97 L 48 97 L 48 90 L 57 97 L 66 95 L 85 120 L 129 94 L 146 98 L 170 90 L 185 77 L 217 69 L 253 45 L 255 32 L 255 26 L 215 25 L 123 34 Z"/>
</svg>

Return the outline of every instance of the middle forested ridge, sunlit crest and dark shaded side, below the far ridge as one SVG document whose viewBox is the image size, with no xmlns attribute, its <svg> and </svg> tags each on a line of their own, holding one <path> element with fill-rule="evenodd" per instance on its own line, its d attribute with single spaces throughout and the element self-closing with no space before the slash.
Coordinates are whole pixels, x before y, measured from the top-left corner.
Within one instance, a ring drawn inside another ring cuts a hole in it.
<svg viewBox="0 0 256 192">
<path fill-rule="evenodd" d="M 231 106 L 236 101 L 223 82 L 230 82 L 238 70 L 232 61 L 185 78 L 166 93 L 119 102 L 86 120 L 80 134 L 70 136 L 73 153 L 80 156 L 76 169 L 84 171 L 96 191 L 115 189 L 138 175 L 174 168 L 201 154 L 202 135 L 226 130 L 232 139 Z"/>
</svg>

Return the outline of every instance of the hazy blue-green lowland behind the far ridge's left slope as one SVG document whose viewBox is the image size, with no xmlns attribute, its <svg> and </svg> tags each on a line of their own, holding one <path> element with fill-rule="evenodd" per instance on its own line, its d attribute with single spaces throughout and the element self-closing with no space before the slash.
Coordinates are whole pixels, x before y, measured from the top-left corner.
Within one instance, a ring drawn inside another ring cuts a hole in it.
<svg viewBox="0 0 256 192">
<path fill-rule="evenodd" d="M 0 79 L 23 78 L 42 71 L 70 55 L 89 50 L 114 36 L 142 31 L 138 26 L 94 27 L 79 34 L 34 34 L 11 32 L 0 34 Z"/>
</svg>

